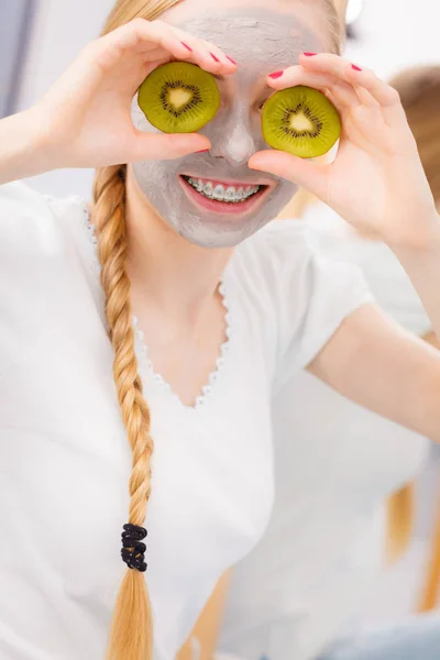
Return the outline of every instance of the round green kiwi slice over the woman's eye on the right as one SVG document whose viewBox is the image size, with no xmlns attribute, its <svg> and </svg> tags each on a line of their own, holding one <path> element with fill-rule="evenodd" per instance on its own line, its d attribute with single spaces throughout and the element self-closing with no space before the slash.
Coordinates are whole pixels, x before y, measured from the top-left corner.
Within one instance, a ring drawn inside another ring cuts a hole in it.
<svg viewBox="0 0 440 660">
<path fill-rule="evenodd" d="M 273 94 L 263 107 L 264 140 L 300 158 L 322 156 L 341 135 L 338 110 L 317 89 L 298 85 Z"/>
</svg>

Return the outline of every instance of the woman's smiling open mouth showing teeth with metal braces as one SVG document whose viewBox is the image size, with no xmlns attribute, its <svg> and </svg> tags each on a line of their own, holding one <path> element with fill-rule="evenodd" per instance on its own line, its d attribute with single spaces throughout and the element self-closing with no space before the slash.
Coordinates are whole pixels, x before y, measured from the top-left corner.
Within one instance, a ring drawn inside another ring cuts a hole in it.
<svg viewBox="0 0 440 660">
<path fill-rule="evenodd" d="M 242 213 L 254 209 L 256 202 L 270 190 L 264 184 L 232 184 L 180 175 L 187 196 L 197 205 L 218 213 Z"/>
</svg>

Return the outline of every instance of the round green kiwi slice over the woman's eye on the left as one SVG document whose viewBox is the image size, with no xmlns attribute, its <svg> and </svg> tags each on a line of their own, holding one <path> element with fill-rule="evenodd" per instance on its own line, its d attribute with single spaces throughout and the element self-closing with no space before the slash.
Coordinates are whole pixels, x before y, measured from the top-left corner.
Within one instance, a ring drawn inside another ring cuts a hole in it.
<svg viewBox="0 0 440 660">
<path fill-rule="evenodd" d="M 215 77 L 195 64 L 169 62 L 142 82 L 139 107 L 164 133 L 193 133 L 217 114 L 220 92 Z"/>
</svg>

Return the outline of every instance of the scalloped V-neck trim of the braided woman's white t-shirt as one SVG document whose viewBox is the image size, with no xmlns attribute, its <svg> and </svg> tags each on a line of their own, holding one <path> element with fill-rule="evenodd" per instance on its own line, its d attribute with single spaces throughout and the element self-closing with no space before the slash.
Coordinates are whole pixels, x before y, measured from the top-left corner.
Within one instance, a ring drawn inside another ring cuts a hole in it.
<svg viewBox="0 0 440 660">
<path fill-rule="evenodd" d="M 97 244 L 98 240 L 95 232 L 95 226 L 90 220 L 90 213 L 87 207 L 87 201 L 81 198 L 77 198 L 82 207 L 82 224 L 88 237 L 88 244 L 91 249 L 91 260 L 94 264 L 95 273 L 98 277 L 98 282 L 100 287 L 100 273 L 101 273 L 101 264 L 99 262 Z M 208 380 L 206 385 L 200 391 L 200 394 L 196 397 L 195 403 L 191 405 L 184 404 L 179 395 L 173 389 L 170 384 L 163 377 L 163 375 L 155 371 L 152 360 L 148 358 L 148 346 L 145 342 L 145 334 L 139 327 L 139 319 L 135 315 L 132 316 L 132 328 L 135 337 L 136 344 L 136 353 L 139 355 L 140 369 L 145 369 L 145 372 L 150 375 L 150 377 L 156 383 L 160 389 L 163 393 L 166 393 L 180 408 L 189 411 L 196 411 L 202 408 L 207 400 L 212 395 L 212 389 L 215 384 L 218 382 L 221 372 L 226 365 L 226 358 L 231 348 L 231 337 L 232 337 L 232 322 L 231 322 L 231 309 L 229 305 L 229 295 L 228 287 L 224 282 L 224 276 L 220 279 L 219 284 L 219 294 L 221 297 L 221 301 L 224 308 L 224 323 L 226 323 L 226 337 L 227 339 L 219 345 L 219 354 L 216 360 L 216 364 L 211 372 L 208 375 Z"/>
</svg>

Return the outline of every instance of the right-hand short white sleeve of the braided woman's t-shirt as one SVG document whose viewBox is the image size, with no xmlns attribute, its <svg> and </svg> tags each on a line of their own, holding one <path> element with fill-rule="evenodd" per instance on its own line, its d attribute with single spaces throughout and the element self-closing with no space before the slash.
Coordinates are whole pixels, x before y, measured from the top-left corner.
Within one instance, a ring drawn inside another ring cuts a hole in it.
<svg viewBox="0 0 440 660">
<path fill-rule="evenodd" d="M 314 360 L 346 317 L 374 297 L 361 270 L 322 256 L 300 221 L 277 221 L 262 233 L 277 324 L 276 392 Z"/>
</svg>

